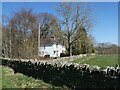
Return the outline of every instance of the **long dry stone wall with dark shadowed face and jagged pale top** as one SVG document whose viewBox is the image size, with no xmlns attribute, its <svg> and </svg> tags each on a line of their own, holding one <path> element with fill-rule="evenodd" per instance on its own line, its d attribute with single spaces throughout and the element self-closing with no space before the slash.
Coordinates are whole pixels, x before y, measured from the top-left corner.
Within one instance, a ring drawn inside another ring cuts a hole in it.
<svg viewBox="0 0 120 90">
<path fill-rule="evenodd" d="M 72 89 L 112 88 L 120 89 L 120 67 L 102 68 L 88 64 L 58 62 L 57 60 L 38 61 L 25 59 L 0 59 L 2 65 L 9 66 L 14 73 L 23 73 L 44 80 L 55 86 L 66 85 Z"/>
</svg>

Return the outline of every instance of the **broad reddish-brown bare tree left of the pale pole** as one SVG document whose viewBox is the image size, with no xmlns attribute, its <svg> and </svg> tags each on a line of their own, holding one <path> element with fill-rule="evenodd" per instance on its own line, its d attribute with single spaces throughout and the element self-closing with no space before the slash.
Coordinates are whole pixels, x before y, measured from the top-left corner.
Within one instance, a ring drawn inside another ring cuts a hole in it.
<svg viewBox="0 0 120 90">
<path fill-rule="evenodd" d="M 36 55 L 38 23 L 32 9 L 15 12 L 9 24 L 11 24 L 12 56 L 32 58 Z"/>
</svg>

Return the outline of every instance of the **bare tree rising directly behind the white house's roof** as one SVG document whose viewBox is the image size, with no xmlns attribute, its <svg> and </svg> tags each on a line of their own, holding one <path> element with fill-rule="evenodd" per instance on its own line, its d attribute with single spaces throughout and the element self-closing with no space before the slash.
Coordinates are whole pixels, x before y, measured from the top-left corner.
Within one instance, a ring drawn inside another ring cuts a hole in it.
<svg viewBox="0 0 120 90">
<path fill-rule="evenodd" d="M 49 35 L 55 35 L 57 37 L 57 33 L 59 31 L 59 24 L 57 18 L 50 13 L 39 13 L 38 20 L 41 25 L 41 38 L 46 38 Z"/>
</svg>

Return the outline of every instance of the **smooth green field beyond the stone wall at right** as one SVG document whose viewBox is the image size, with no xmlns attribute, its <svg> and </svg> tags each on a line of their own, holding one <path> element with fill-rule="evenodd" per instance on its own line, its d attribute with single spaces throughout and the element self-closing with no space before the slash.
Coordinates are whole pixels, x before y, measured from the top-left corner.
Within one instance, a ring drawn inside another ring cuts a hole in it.
<svg viewBox="0 0 120 90">
<path fill-rule="evenodd" d="M 98 65 L 100 67 L 115 66 L 118 64 L 118 55 L 95 55 L 93 58 L 84 57 L 73 61 L 74 63 Z"/>
</svg>

